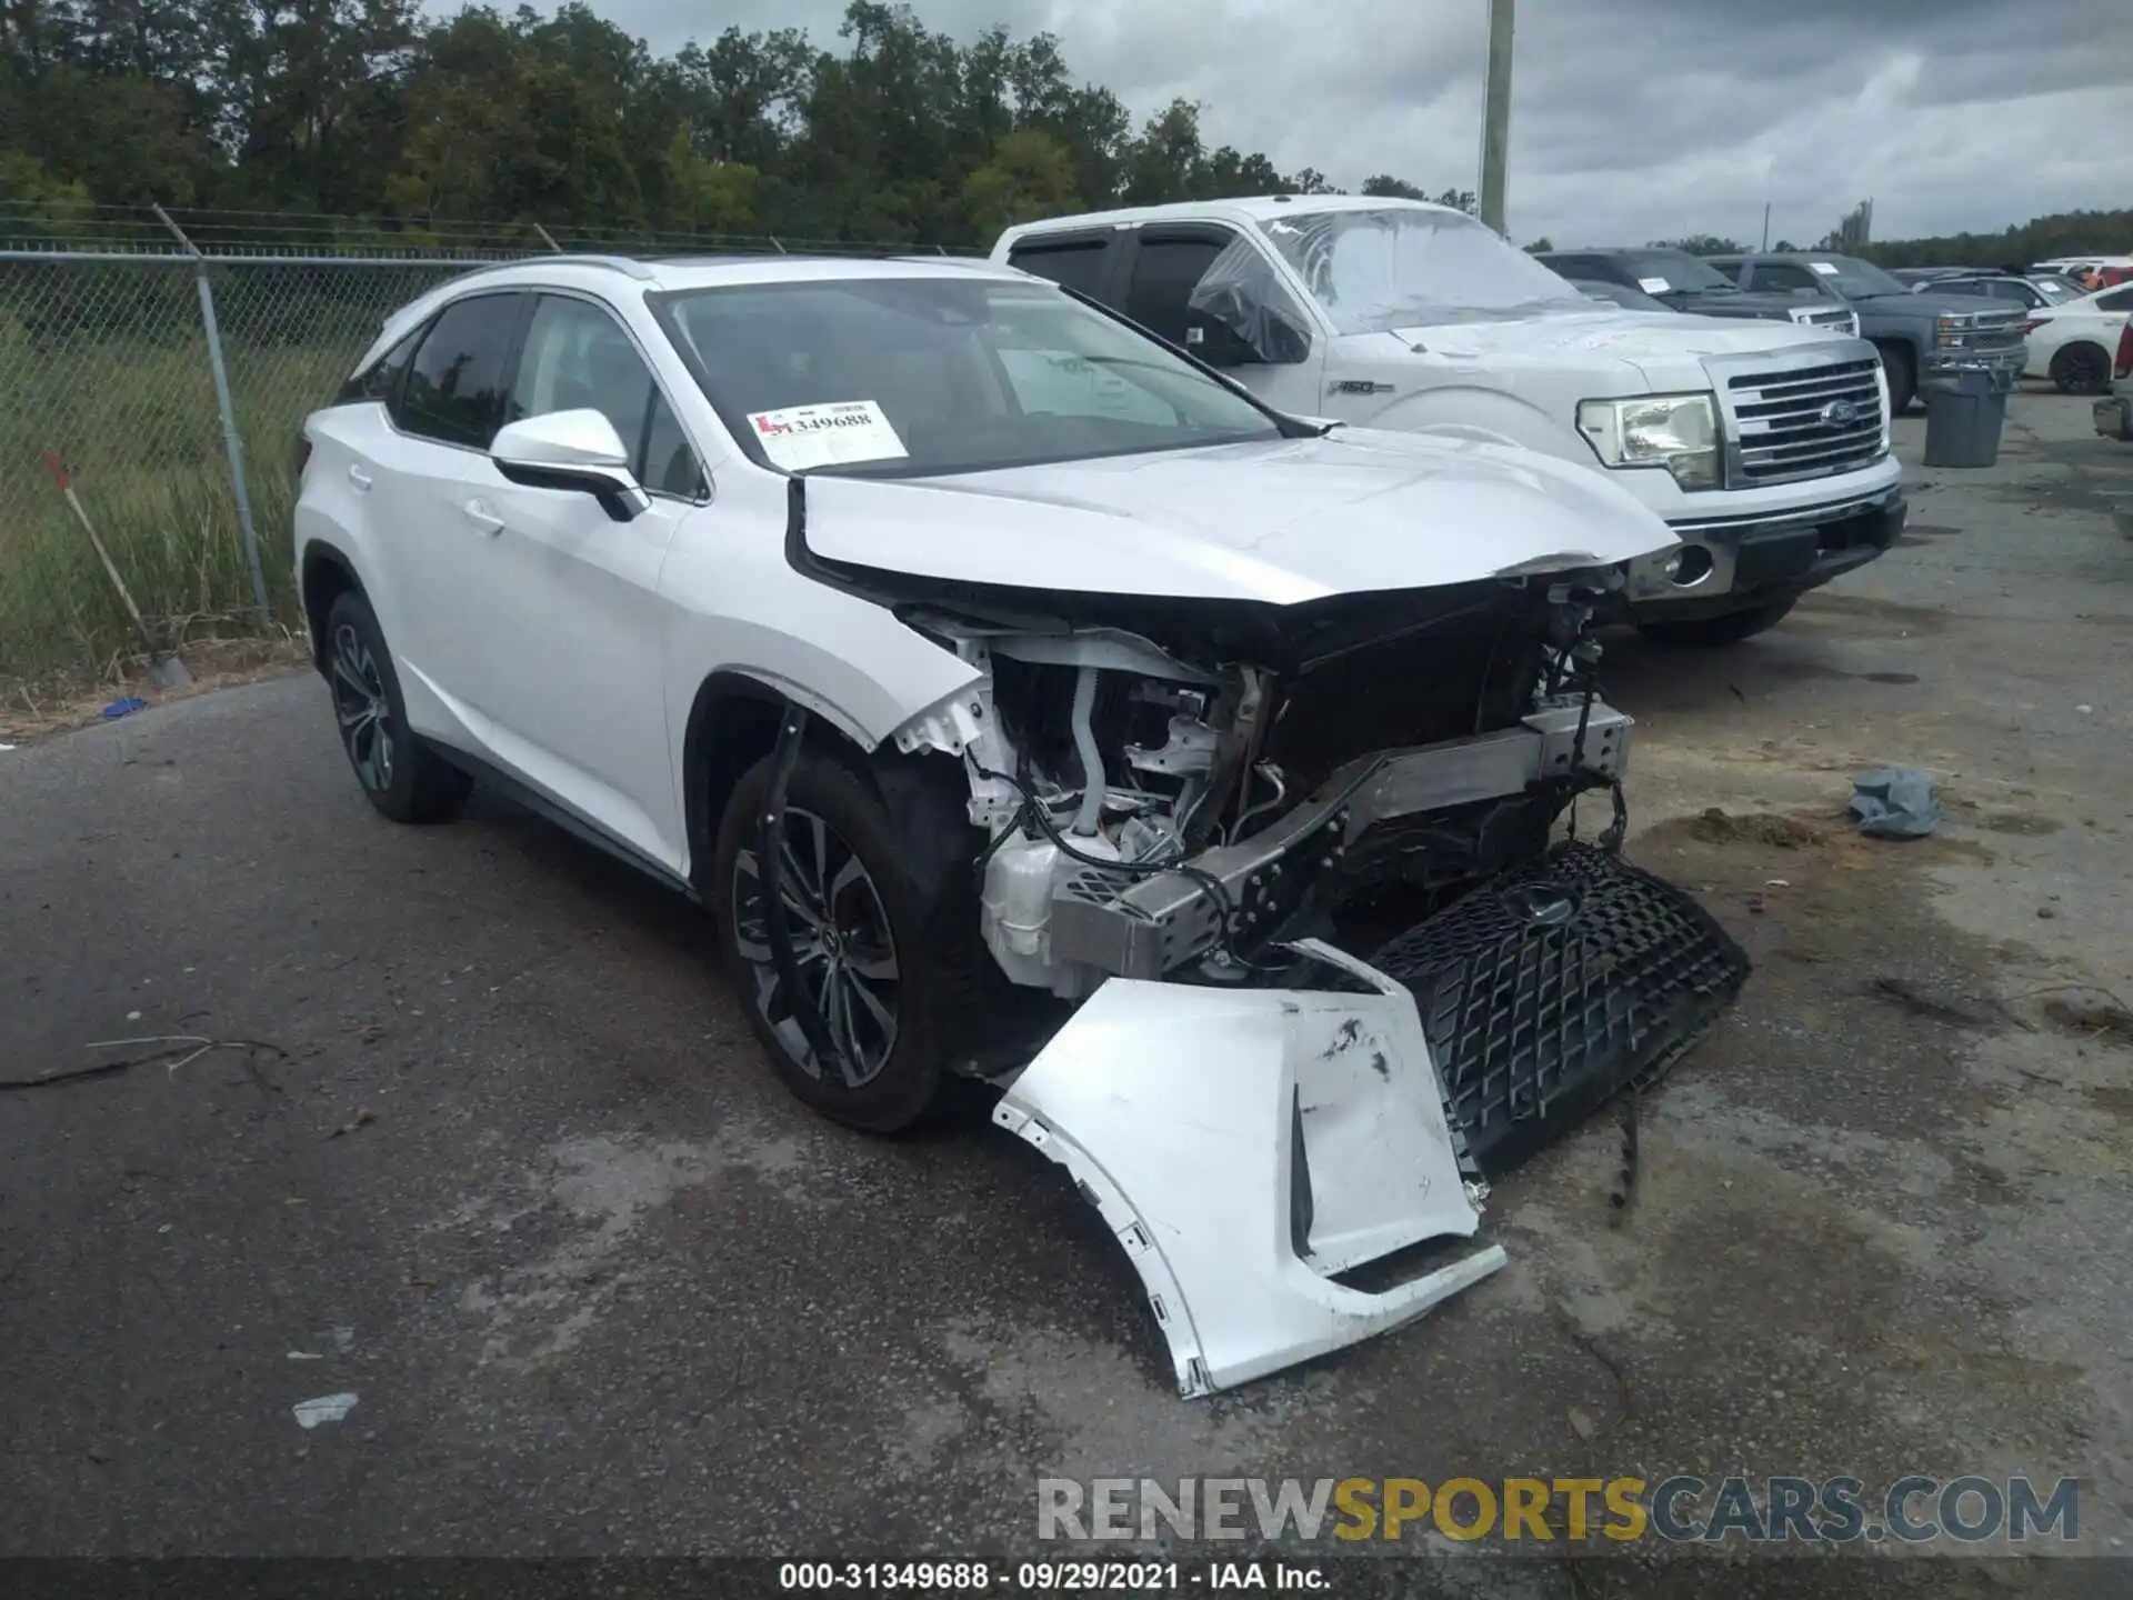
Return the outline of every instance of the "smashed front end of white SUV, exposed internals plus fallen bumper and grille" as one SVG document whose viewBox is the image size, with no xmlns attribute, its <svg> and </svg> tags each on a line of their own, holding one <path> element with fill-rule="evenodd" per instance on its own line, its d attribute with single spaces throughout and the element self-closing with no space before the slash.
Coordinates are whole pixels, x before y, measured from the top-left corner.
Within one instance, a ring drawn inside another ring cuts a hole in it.
<svg viewBox="0 0 2133 1600">
<path fill-rule="evenodd" d="M 1295 606 L 898 585 L 977 678 L 896 747 L 962 759 L 983 945 L 1056 1009 L 992 1075 L 994 1122 L 1111 1225 L 1184 1395 L 1499 1267 L 1463 1246 L 1489 1178 L 1653 1082 L 1745 981 L 1619 855 L 1632 721 L 1591 638 L 1617 582 Z"/>
</svg>

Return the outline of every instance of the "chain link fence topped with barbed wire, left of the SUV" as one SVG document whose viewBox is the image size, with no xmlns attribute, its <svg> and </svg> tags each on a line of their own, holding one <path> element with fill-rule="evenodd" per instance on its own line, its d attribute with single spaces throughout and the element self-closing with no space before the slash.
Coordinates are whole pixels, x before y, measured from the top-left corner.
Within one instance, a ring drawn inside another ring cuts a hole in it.
<svg viewBox="0 0 2133 1600">
<path fill-rule="evenodd" d="M 53 239 L 0 213 L 0 681 L 113 676 L 190 638 L 299 627 L 303 418 L 392 309 L 448 277 L 570 247 L 872 250 L 540 228 L 322 250 L 301 228 L 271 243 L 271 222 L 156 220 L 164 247 L 139 218 Z"/>
</svg>

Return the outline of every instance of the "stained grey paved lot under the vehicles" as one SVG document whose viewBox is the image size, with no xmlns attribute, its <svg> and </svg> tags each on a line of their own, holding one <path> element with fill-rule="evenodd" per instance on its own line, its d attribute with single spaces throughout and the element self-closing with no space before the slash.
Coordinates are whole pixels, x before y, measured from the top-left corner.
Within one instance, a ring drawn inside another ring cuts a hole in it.
<svg viewBox="0 0 2133 1600">
<path fill-rule="evenodd" d="M 2133 448 L 2056 395 L 1986 471 L 1922 431 L 1883 561 L 1730 653 L 1613 646 L 1632 855 L 1758 966 L 1647 1101 L 1627 1225 L 1600 1122 L 1497 1186 L 1510 1269 L 1212 1402 L 981 1101 L 815 1120 L 697 913 L 501 804 L 375 819 L 316 678 L 0 753 L 0 1075 L 260 1041 L 0 1094 L 0 1553 L 1007 1551 L 1041 1474 L 1677 1470 L 2078 1474 L 2124 1553 Z M 1935 838 L 1843 821 L 1883 764 L 1939 774 Z"/>
</svg>

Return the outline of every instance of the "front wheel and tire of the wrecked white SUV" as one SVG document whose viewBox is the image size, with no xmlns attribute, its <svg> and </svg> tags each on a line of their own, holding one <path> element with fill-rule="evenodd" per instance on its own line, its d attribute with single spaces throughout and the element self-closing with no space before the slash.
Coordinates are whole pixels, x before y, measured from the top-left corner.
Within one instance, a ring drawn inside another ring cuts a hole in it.
<svg viewBox="0 0 2133 1600">
<path fill-rule="evenodd" d="M 975 896 L 932 881 L 926 851 L 866 777 L 800 751 L 785 787 L 781 898 L 806 1005 L 838 1047 L 819 1062 L 770 956 L 755 860 L 770 770 L 764 757 L 740 779 L 712 855 L 736 998 L 793 1097 L 864 1133 L 915 1126 L 941 1109 L 949 1054 L 973 1022 Z"/>
</svg>

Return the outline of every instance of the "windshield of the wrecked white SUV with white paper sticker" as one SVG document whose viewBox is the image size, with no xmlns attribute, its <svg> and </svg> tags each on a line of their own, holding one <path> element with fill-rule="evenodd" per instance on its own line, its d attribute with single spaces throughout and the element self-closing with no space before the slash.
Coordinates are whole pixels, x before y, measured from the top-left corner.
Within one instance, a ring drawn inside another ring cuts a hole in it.
<svg viewBox="0 0 2133 1600">
<path fill-rule="evenodd" d="M 785 471 L 924 478 L 1282 437 L 1049 284 L 834 277 L 655 305 L 734 437 Z"/>
</svg>

